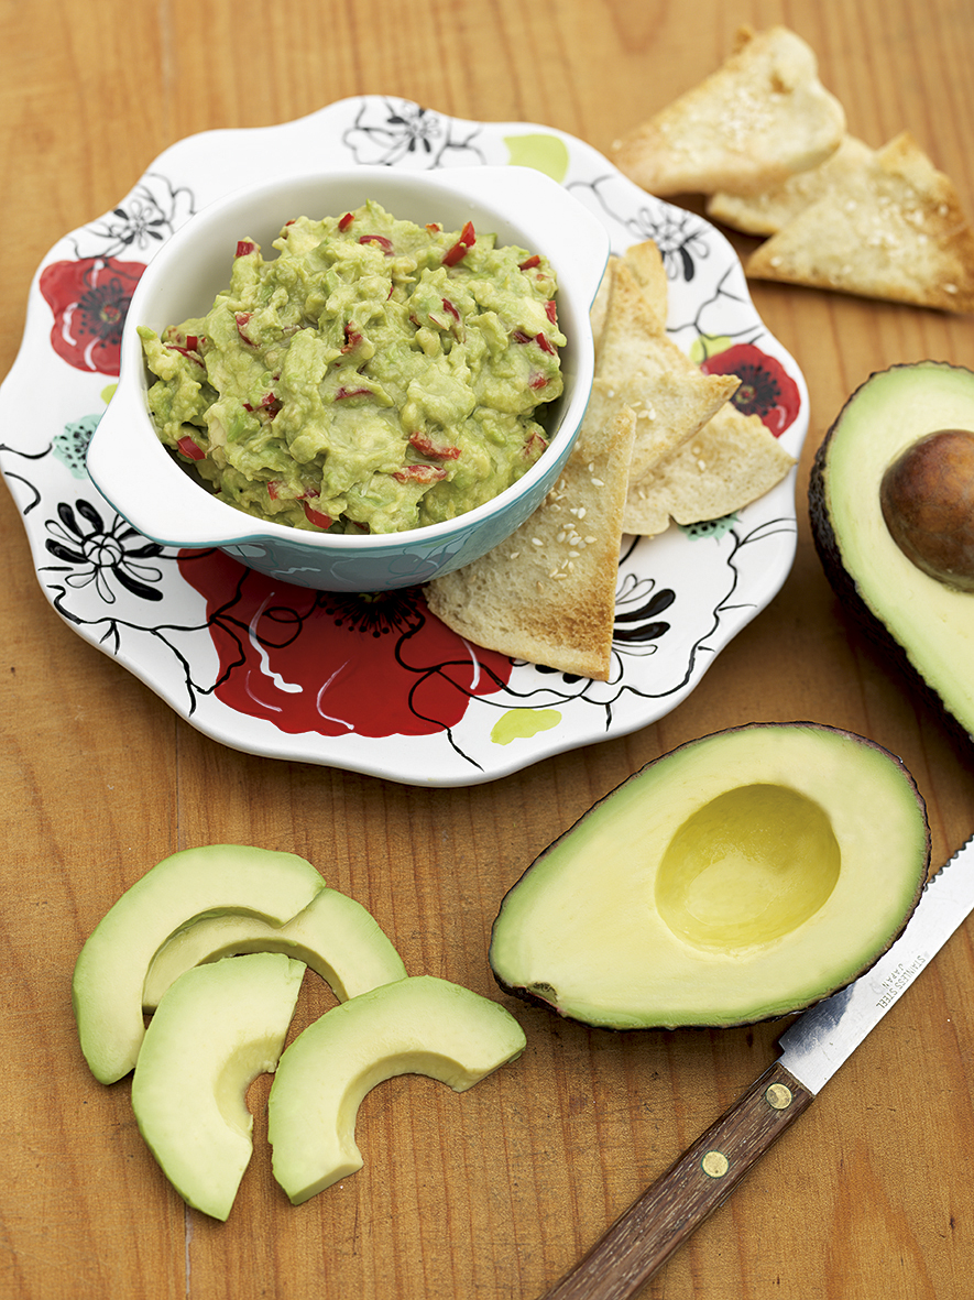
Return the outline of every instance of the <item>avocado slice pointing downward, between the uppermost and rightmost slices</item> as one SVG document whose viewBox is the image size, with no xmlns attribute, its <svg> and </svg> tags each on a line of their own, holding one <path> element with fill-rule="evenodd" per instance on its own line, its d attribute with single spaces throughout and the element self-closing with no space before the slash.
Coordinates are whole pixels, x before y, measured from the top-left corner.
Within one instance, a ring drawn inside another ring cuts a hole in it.
<svg viewBox="0 0 974 1300">
<path fill-rule="evenodd" d="M 195 1209 L 226 1219 L 254 1149 L 246 1093 L 283 1049 L 304 966 L 251 953 L 195 966 L 159 1004 L 131 1104 L 163 1173 Z"/>
</svg>

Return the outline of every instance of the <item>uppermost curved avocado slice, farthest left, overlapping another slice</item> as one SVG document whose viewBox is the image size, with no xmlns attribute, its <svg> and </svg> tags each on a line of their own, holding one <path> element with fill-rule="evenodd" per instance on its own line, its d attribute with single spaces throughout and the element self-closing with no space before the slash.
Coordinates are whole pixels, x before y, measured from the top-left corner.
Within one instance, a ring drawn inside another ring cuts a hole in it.
<svg viewBox="0 0 974 1300">
<path fill-rule="evenodd" d="M 172 933 L 207 913 L 248 913 L 282 926 L 324 888 L 304 858 L 239 844 L 183 849 L 147 871 L 109 907 L 74 966 L 78 1037 L 99 1083 L 135 1065 L 146 972 Z"/>
</svg>

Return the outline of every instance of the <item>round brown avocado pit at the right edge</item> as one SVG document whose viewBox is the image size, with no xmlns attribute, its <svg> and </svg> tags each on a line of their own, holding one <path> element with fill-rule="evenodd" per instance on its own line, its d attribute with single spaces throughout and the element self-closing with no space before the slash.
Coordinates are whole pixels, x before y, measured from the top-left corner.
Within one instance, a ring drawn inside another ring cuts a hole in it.
<svg viewBox="0 0 974 1300">
<path fill-rule="evenodd" d="M 883 474 L 889 536 L 918 569 L 974 592 L 974 433 L 940 429 L 906 447 Z"/>
</svg>

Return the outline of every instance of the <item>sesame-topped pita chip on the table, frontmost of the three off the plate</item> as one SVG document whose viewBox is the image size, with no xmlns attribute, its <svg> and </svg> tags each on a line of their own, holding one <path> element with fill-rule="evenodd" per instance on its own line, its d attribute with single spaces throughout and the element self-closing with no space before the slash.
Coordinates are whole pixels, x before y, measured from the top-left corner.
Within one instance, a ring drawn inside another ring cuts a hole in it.
<svg viewBox="0 0 974 1300">
<path fill-rule="evenodd" d="M 974 311 L 974 231 L 949 177 L 909 131 L 748 259 L 778 280 L 947 312 Z"/>
</svg>

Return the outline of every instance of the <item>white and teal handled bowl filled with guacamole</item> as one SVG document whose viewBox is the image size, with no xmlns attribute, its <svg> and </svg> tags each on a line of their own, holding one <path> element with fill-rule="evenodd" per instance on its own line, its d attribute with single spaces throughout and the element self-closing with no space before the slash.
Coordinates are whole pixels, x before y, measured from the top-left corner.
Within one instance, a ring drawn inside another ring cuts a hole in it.
<svg viewBox="0 0 974 1300">
<path fill-rule="evenodd" d="M 150 263 L 92 480 L 139 532 L 322 590 L 429 581 L 541 503 L 593 372 L 601 222 L 529 168 L 242 190 Z"/>
</svg>

